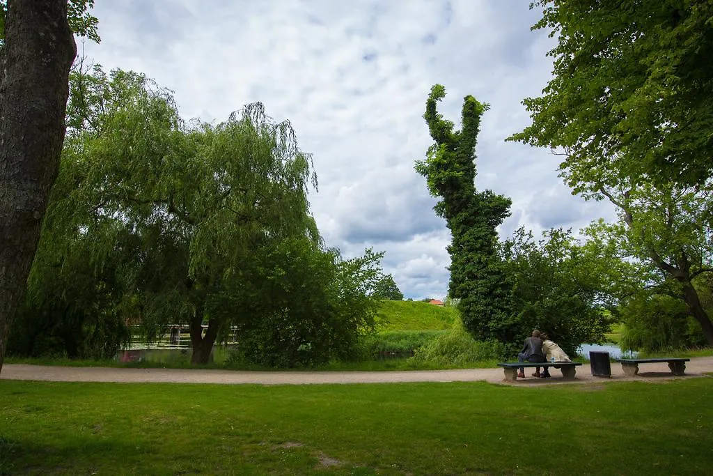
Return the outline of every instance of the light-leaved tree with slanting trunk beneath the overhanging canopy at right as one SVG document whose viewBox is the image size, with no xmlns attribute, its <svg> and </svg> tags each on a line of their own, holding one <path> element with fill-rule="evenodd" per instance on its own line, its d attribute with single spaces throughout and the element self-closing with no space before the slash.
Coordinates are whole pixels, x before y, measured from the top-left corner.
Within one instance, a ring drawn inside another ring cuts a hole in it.
<svg viewBox="0 0 713 476">
<path fill-rule="evenodd" d="M 648 288 L 674 289 L 669 293 L 682 300 L 713 345 L 713 323 L 696 286 L 697 280 L 713 274 L 712 181 L 694 187 L 635 186 L 627 181 L 607 186 L 600 179 L 598 174 L 576 178 L 588 181 L 590 196 L 608 198 L 620 221 L 596 224 L 588 233 L 615 243 L 628 259 L 639 260 Z"/>
</svg>

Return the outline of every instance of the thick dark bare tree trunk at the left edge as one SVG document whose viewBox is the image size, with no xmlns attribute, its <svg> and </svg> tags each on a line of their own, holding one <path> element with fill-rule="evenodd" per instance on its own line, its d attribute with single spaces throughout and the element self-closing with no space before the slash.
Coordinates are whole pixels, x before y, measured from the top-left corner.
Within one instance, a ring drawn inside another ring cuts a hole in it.
<svg viewBox="0 0 713 476">
<path fill-rule="evenodd" d="M 0 370 L 64 141 L 67 0 L 9 0 L 0 47 Z"/>
</svg>

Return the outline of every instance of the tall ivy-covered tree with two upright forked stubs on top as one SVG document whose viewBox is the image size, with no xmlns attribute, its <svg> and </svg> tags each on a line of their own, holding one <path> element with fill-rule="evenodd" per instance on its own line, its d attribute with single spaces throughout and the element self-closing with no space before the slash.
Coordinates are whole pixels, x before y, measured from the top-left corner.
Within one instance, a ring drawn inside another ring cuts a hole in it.
<svg viewBox="0 0 713 476">
<path fill-rule="evenodd" d="M 431 88 L 424 118 L 434 144 L 416 171 L 426 177 L 434 210 L 451 230 L 451 280 L 448 294 L 460 300 L 463 324 L 476 339 L 508 342 L 515 338 L 511 323 L 511 285 L 498 255 L 496 228 L 509 216 L 511 200 L 492 191 L 476 191 L 476 143 L 481 116 L 488 105 L 466 96 L 462 128 L 436 111 L 446 96 L 440 84 Z"/>
</svg>

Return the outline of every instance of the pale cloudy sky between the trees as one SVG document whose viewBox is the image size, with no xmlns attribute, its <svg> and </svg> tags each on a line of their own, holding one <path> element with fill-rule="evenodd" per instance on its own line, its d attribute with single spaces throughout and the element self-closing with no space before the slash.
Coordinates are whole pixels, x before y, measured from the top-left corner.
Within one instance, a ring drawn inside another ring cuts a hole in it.
<svg viewBox="0 0 713 476">
<path fill-rule="evenodd" d="M 443 298 L 450 241 L 414 161 L 431 143 L 422 118 L 434 83 L 459 124 L 463 96 L 491 104 L 476 186 L 513 200 L 501 228 L 575 231 L 612 212 L 558 178 L 548 151 L 506 143 L 529 123 L 520 101 L 550 78 L 553 46 L 530 31 L 525 0 L 111 0 L 96 2 L 101 44 L 79 44 L 106 70 L 138 71 L 175 91 L 186 119 L 225 121 L 260 101 L 289 119 L 314 155 L 312 212 L 327 245 L 382 264 L 407 298 Z"/>
</svg>

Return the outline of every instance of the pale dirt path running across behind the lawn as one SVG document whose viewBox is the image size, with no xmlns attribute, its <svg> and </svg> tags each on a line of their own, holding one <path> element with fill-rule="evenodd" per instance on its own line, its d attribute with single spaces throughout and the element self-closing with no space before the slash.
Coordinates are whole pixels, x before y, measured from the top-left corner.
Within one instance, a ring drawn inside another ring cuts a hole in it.
<svg viewBox="0 0 713 476">
<path fill-rule="evenodd" d="M 612 363 L 612 377 L 593 377 L 588 364 L 577 369 L 574 383 L 602 383 L 623 380 L 666 380 L 671 375 L 665 363 L 640 365 L 637 377 L 624 375 L 621 365 Z M 553 378 L 530 377 L 531 369 L 511 385 L 552 385 L 572 383 L 562 379 L 558 370 Z M 713 357 L 692 358 L 686 365 L 686 376 L 700 377 L 713 373 Z M 0 380 L 45 380 L 53 382 L 154 382 L 154 383 L 221 383 L 258 385 L 301 385 L 319 383 L 399 383 L 399 382 L 474 382 L 484 380 L 503 383 L 501 368 L 460 370 L 409 370 L 383 372 L 252 372 L 237 370 L 165 369 L 165 368 L 102 368 L 56 367 L 43 365 L 4 365 Z"/>
</svg>

